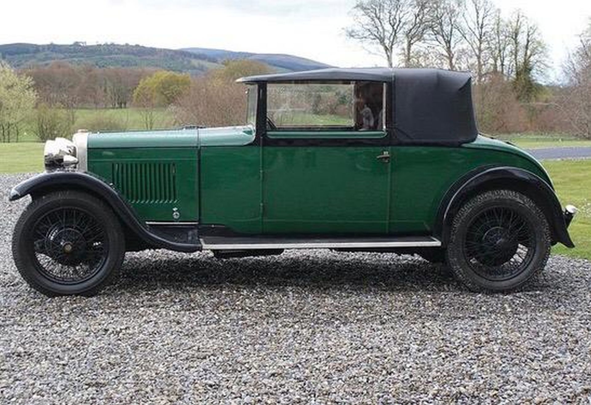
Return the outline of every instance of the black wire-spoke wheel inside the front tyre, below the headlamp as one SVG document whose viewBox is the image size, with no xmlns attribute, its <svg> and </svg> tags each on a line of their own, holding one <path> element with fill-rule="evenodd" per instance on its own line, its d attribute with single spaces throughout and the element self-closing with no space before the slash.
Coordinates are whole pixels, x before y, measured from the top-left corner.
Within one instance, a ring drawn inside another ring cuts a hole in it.
<svg viewBox="0 0 591 405">
<path fill-rule="evenodd" d="M 109 254 L 104 226 L 77 207 L 47 212 L 34 225 L 34 264 L 56 283 L 81 283 L 95 276 Z"/>
</svg>

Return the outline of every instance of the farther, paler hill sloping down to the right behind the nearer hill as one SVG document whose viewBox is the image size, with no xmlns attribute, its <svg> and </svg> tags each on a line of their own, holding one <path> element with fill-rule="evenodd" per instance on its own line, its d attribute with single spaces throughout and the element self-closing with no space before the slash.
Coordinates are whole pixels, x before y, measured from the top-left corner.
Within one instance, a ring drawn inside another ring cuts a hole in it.
<svg viewBox="0 0 591 405">
<path fill-rule="evenodd" d="M 275 70 L 280 71 L 290 70 L 296 72 L 298 70 L 323 69 L 324 67 L 330 67 L 328 64 L 320 63 L 315 60 L 286 54 L 235 52 L 210 48 L 183 48 L 181 50 L 189 51 L 196 55 L 207 56 L 215 59 L 218 63 L 232 59 L 256 60 L 266 63 Z"/>
</svg>

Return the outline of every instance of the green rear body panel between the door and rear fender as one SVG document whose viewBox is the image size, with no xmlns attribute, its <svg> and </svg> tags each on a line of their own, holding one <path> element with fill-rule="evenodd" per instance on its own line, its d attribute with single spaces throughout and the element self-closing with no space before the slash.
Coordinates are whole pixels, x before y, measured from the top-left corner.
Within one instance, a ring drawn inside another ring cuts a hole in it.
<svg viewBox="0 0 591 405">
<path fill-rule="evenodd" d="M 457 180 L 483 166 L 515 166 L 545 178 L 539 164 L 507 150 L 463 147 L 392 147 L 389 231 L 430 234 L 441 199 Z"/>
</svg>

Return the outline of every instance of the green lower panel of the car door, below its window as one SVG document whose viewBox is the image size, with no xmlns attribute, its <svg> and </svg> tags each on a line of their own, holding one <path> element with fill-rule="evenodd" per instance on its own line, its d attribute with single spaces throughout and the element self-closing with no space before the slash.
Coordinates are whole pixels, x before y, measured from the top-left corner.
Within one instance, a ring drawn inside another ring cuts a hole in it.
<svg viewBox="0 0 591 405">
<path fill-rule="evenodd" d="M 383 234 L 389 147 L 263 148 L 265 234 Z"/>
</svg>

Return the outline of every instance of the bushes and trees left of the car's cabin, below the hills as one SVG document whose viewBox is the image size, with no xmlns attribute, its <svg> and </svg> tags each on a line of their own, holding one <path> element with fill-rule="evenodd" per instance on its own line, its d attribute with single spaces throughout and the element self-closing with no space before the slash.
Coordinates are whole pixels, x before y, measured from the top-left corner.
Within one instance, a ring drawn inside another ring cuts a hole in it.
<svg viewBox="0 0 591 405">
<path fill-rule="evenodd" d="M 17 71 L 0 61 L 0 141 L 18 142 L 31 121 L 41 141 L 67 137 L 79 129 L 73 125 L 80 108 L 134 107 L 144 129 L 154 128 L 156 111 L 162 109 L 179 126 L 239 124 L 245 118 L 246 98 L 235 80 L 263 73 L 270 73 L 266 64 L 249 60 L 226 61 L 202 76 L 63 62 Z M 93 131 L 126 129 L 124 123 L 101 115 L 87 124 L 85 129 Z"/>
</svg>

